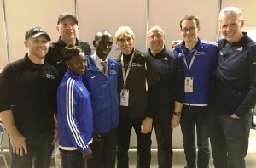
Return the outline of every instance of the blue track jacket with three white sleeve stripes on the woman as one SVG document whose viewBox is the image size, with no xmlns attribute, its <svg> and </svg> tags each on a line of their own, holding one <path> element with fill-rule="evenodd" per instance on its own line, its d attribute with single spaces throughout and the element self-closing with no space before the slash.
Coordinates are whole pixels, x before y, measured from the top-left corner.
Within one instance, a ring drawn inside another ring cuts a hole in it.
<svg viewBox="0 0 256 168">
<path fill-rule="evenodd" d="M 83 154 L 92 142 L 92 109 L 90 93 L 81 76 L 67 70 L 57 92 L 60 148 L 79 149 Z"/>
</svg>

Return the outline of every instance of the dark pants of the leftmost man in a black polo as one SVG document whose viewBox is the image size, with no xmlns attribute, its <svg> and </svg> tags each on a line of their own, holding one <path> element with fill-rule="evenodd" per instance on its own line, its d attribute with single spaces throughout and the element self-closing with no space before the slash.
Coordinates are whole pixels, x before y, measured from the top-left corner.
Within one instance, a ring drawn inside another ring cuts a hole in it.
<svg viewBox="0 0 256 168">
<path fill-rule="evenodd" d="M 53 133 L 26 137 L 27 154 L 23 156 L 14 154 L 10 147 L 11 168 L 49 168 L 51 154 L 54 146 L 51 145 L 54 138 Z"/>
</svg>

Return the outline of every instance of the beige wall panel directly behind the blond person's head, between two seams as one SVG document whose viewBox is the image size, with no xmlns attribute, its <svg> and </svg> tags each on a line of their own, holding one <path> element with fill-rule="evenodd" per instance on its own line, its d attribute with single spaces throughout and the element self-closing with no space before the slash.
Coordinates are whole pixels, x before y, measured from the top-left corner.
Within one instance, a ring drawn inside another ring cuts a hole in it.
<svg viewBox="0 0 256 168">
<path fill-rule="evenodd" d="M 96 31 L 106 29 L 114 36 L 119 26 L 130 26 L 135 33 L 135 48 L 144 51 L 146 49 L 146 0 L 87 0 L 79 1 L 79 37 L 81 40 L 90 43 Z M 116 58 L 120 51 L 115 45 L 113 38 L 113 48 L 110 57 Z"/>
</svg>

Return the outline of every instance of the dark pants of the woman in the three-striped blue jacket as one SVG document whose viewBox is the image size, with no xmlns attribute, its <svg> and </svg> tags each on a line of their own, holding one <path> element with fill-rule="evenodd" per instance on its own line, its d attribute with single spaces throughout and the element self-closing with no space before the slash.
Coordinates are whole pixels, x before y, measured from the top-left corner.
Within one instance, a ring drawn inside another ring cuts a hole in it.
<svg viewBox="0 0 256 168">
<path fill-rule="evenodd" d="M 83 154 L 79 150 L 61 150 L 63 168 L 84 168 Z"/>
</svg>

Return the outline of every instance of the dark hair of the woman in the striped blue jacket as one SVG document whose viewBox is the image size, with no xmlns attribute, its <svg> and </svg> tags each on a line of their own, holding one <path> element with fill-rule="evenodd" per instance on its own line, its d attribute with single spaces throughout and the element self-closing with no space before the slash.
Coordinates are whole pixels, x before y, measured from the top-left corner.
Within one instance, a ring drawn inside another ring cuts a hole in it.
<svg viewBox="0 0 256 168">
<path fill-rule="evenodd" d="M 64 61 L 68 61 L 69 59 L 72 59 L 73 56 L 76 56 L 79 53 L 84 53 L 83 49 L 73 44 L 68 44 L 65 48 L 62 49 L 62 55 L 63 55 Z"/>
</svg>

